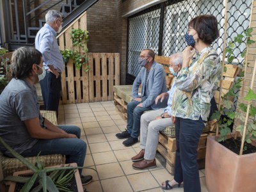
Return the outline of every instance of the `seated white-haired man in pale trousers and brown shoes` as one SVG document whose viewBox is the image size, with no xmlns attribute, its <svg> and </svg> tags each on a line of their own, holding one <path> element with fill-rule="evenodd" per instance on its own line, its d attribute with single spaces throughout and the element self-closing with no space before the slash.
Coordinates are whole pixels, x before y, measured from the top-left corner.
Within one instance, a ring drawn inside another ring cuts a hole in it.
<svg viewBox="0 0 256 192">
<path fill-rule="evenodd" d="M 182 68 L 182 52 L 172 54 L 170 56 L 170 72 L 173 76 L 177 76 Z M 140 148 L 138 155 L 132 157 L 132 168 L 135 170 L 145 170 L 156 167 L 156 150 L 159 140 L 159 131 L 173 125 L 172 118 L 172 103 L 173 94 L 176 90 L 175 81 L 172 88 L 167 93 L 161 93 L 156 97 L 157 102 L 163 102 L 168 97 L 168 106 L 166 108 L 149 111 L 141 116 L 140 120 Z"/>
</svg>

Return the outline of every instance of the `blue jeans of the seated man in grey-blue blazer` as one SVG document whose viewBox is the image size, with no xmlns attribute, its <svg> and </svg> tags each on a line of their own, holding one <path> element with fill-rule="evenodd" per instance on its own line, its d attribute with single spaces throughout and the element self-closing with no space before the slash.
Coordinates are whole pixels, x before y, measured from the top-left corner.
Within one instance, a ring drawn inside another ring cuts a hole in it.
<svg viewBox="0 0 256 192">
<path fill-rule="evenodd" d="M 127 104 L 127 132 L 131 134 L 132 138 L 138 138 L 140 135 L 140 117 L 144 111 L 151 110 L 151 107 L 140 108 L 136 106 L 140 102 L 133 100 Z"/>
</svg>

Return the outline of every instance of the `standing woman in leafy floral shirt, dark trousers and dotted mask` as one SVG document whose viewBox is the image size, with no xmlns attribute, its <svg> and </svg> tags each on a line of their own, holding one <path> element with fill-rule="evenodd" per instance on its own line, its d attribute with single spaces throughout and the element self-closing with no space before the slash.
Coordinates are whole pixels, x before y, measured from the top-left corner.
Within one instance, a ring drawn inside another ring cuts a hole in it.
<svg viewBox="0 0 256 192">
<path fill-rule="evenodd" d="M 196 149 L 220 81 L 220 58 L 211 47 L 218 36 L 218 22 L 213 15 L 200 15 L 188 23 L 184 36 L 188 47 L 182 52 L 172 105 L 177 144 L 175 173 L 173 180 L 162 183 L 163 189 L 184 186 L 184 191 L 201 191 Z"/>
</svg>

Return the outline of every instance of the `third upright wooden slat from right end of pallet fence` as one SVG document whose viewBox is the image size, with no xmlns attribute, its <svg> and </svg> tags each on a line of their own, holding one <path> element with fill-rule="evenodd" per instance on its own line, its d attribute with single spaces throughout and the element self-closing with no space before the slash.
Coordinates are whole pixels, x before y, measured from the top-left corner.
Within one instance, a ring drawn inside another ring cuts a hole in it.
<svg viewBox="0 0 256 192">
<path fill-rule="evenodd" d="M 108 81 L 107 81 L 107 55 L 106 53 L 100 54 L 102 64 L 102 99 L 103 101 L 108 100 Z"/>
</svg>

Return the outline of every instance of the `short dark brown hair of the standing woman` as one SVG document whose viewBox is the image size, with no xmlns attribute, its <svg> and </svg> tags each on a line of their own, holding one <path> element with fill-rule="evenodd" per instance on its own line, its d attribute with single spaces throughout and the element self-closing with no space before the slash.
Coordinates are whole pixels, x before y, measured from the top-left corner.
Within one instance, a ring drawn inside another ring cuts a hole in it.
<svg viewBox="0 0 256 192">
<path fill-rule="evenodd" d="M 188 27 L 195 29 L 205 44 L 212 44 L 220 36 L 218 21 L 213 15 L 199 15 L 189 21 Z"/>
</svg>

